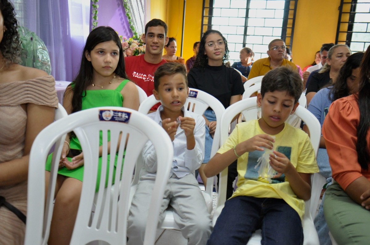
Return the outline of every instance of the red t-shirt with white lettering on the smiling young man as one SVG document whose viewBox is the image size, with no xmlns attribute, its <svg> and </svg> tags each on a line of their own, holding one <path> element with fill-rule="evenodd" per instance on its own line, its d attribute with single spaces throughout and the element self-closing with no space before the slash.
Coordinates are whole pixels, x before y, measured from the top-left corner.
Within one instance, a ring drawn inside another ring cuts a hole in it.
<svg viewBox="0 0 370 245">
<path fill-rule="evenodd" d="M 129 80 L 147 93 L 147 96 L 151 96 L 154 89 L 154 72 L 164 63 L 167 63 L 165 59 L 158 64 L 152 64 L 145 61 L 144 55 L 128 56 L 125 58 L 126 74 Z"/>
</svg>

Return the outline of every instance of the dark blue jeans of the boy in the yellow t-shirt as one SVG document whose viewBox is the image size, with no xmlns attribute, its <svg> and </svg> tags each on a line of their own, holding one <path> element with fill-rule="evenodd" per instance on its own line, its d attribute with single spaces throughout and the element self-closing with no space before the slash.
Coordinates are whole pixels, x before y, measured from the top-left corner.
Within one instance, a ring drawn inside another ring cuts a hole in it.
<svg viewBox="0 0 370 245">
<path fill-rule="evenodd" d="M 226 201 L 207 245 L 245 245 L 258 229 L 261 244 L 303 244 L 302 221 L 283 199 L 236 196 Z"/>
</svg>

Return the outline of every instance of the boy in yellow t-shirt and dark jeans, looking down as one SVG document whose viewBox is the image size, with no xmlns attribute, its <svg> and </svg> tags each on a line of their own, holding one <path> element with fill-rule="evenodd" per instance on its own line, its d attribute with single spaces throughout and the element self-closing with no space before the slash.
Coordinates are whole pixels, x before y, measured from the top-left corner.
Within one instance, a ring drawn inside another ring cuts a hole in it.
<svg viewBox="0 0 370 245">
<path fill-rule="evenodd" d="M 238 159 L 238 188 L 226 201 L 207 244 L 246 244 L 262 229 L 263 244 L 303 244 L 302 217 L 318 172 L 308 135 L 285 123 L 302 94 L 299 74 L 287 67 L 263 77 L 262 117 L 236 125 L 205 167 L 214 176 Z"/>
</svg>

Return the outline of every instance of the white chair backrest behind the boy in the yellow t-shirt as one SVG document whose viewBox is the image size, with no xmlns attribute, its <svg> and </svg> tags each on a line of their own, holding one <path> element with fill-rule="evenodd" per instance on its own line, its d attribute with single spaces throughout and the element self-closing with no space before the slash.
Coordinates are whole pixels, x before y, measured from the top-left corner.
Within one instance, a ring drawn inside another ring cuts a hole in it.
<svg viewBox="0 0 370 245">
<path fill-rule="evenodd" d="M 223 145 L 228 138 L 229 134 L 229 125 L 233 117 L 240 112 L 254 110 L 257 107 L 256 98 L 247 98 L 241 101 L 238 101 L 231 106 L 229 106 L 225 112 L 222 114 L 221 117 L 221 124 L 220 124 L 220 145 Z M 254 115 L 250 115 L 249 113 L 243 114 L 246 121 L 257 119 Z M 317 151 L 319 149 L 320 137 L 321 137 L 321 126 L 317 118 L 310 113 L 307 109 L 302 106 L 298 106 L 295 113 L 302 121 L 307 124 L 307 127 L 310 130 L 310 140 L 315 151 L 315 156 L 317 156 Z M 228 175 L 228 168 L 225 168 L 220 173 L 220 180 L 219 180 L 219 194 L 218 194 L 218 203 L 217 207 L 225 204 L 226 201 L 226 182 L 227 182 L 227 175 Z"/>
</svg>

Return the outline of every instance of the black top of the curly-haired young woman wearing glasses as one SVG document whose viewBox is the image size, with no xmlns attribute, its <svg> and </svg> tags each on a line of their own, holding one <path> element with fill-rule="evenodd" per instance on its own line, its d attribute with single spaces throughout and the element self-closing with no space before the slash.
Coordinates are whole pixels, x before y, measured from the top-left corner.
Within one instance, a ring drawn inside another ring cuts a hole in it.
<svg viewBox="0 0 370 245">
<path fill-rule="evenodd" d="M 218 99 L 227 108 L 231 96 L 243 94 L 242 78 L 233 68 L 206 65 L 205 70 L 192 68 L 188 73 L 189 87 L 202 90 Z"/>
</svg>

